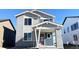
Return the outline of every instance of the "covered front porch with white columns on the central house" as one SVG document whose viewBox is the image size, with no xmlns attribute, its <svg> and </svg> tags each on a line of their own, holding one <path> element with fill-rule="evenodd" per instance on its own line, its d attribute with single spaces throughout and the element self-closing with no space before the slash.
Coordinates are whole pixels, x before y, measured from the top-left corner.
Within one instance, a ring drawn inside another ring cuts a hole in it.
<svg viewBox="0 0 79 59">
<path fill-rule="evenodd" d="M 44 26 L 45 24 L 38 25 L 34 28 L 36 48 L 63 48 L 60 32 L 61 26 L 55 24 L 51 24 L 52 27 Z M 47 24 L 49 25 L 49 23 Z"/>
</svg>

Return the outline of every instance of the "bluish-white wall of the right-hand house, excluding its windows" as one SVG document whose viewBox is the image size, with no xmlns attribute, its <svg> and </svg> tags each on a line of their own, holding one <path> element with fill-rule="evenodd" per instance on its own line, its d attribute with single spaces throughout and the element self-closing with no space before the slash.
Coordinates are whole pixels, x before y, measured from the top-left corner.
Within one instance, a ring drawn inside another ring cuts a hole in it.
<svg viewBox="0 0 79 59">
<path fill-rule="evenodd" d="M 62 37 L 63 37 L 63 42 L 64 44 L 67 44 L 67 42 L 71 44 L 79 44 L 79 29 L 71 31 L 71 25 L 78 22 L 79 26 L 79 18 L 67 18 L 65 23 L 64 23 L 64 28 L 62 30 Z M 67 27 L 69 27 L 69 32 L 67 32 Z M 64 34 L 64 29 L 66 33 Z M 78 41 L 74 42 L 73 35 L 77 34 Z"/>
</svg>

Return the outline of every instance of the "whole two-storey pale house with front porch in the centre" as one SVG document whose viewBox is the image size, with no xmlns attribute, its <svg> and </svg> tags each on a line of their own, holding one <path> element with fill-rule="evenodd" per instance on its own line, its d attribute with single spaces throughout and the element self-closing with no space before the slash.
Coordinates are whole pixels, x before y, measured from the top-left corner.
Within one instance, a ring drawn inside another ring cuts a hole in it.
<svg viewBox="0 0 79 59">
<path fill-rule="evenodd" d="M 54 22 L 55 16 L 39 10 L 17 14 L 16 47 L 63 48 L 62 25 Z"/>
</svg>

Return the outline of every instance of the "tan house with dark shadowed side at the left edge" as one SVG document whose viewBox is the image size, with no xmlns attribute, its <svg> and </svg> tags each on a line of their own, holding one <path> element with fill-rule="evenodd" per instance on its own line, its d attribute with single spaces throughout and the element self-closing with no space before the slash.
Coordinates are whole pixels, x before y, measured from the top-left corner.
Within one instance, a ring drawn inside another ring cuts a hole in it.
<svg viewBox="0 0 79 59">
<path fill-rule="evenodd" d="M 0 47 L 10 48 L 15 46 L 15 28 L 9 19 L 0 20 Z"/>
</svg>

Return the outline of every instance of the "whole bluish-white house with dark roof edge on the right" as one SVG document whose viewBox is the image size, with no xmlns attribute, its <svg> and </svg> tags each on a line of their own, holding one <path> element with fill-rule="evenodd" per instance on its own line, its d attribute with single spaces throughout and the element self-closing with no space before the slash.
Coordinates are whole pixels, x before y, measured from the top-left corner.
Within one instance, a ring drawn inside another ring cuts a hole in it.
<svg viewBox="0 0 79 59">
<path fill-rule="evenodd" d="M 63 22 L 63 42 L 64 44 L 79 44 L 79 16 L 65 17 Z"/>
</svg>

